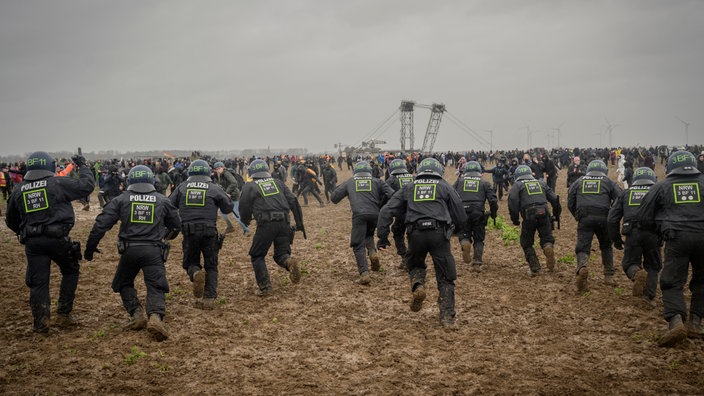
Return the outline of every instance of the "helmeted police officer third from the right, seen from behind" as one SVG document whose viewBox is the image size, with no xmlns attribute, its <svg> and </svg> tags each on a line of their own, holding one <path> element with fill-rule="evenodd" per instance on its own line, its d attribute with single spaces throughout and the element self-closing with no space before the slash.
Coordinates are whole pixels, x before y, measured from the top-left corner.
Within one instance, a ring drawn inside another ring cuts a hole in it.
<svg viewBox="0 0 704 396">
<path fill-rule="evenodd" d="M 575 180 L 567 195 L 567 208 L 577 220 L 577 292 L 588 290 L 587 262 L 594 234 L 599 241 L 601 263 L 604 266 L 604 283 L 613 285 L 614 252 L 607 228 L 609 209 L 622 190 L 607 174 L 609 170 L 602 160 L 593 160 L 587 165 L 587 174 Z"/>
</svg>

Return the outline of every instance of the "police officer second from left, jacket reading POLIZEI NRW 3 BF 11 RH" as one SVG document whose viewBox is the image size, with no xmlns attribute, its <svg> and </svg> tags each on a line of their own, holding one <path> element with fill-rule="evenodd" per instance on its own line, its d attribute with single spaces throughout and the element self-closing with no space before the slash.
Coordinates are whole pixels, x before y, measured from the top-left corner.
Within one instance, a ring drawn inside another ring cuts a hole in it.
<svg viewBox="0 0 704 396">
<path fill-rule="evenodd" d="M 127 190 L 111 200 L 95 218 L 84 256 L 88 261 L 93 260 L 93 253 L 100 253 L 100 240 L 120 222 L 117 236 L 120 261 L 112 290 L 120 293 L 122 305 L 130 314 L 125 328 L 141 330 L 146 326 L 149 334 L 157 341 L 163 341 L 169 337 L 163 323 L 169 283 L 164 268 L 167 246 L 162 240 L 178 235 L 181 219 L 171 201 L 154 188 L 154 173 L 148 167 L 137 165 L 130 169 L 127 184 Z M 147 287 L 148 322 L 134 288 L 139 270 L 142 270 Z"/>
</svg>

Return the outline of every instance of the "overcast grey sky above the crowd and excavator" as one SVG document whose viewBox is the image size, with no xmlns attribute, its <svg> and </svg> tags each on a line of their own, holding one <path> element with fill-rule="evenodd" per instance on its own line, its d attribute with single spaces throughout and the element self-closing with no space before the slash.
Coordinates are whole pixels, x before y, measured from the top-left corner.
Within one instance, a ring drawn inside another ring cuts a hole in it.
<svg viewBox="0 0 704 396">
<path fill-rule="evenodd" d="M 0 155 L 704 143 L 704 1 L 0 0 Z M 429 111 L 415 111 L 420 146 Z M 398 117 L 374 137 L 400 147 Z"/>
</svg>

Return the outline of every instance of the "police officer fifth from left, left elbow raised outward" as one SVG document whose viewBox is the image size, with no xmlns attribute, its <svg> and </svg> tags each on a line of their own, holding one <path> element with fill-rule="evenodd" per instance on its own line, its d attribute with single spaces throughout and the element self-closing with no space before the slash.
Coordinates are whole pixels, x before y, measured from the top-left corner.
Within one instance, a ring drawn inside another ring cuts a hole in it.
<svg viewBox="0 0 704 396">
<path fill-rule="evenodd" d="M 337 186 L 332 192 L 332 203 L 337 204 L 349 197 L 352 208 L 352 235 L 350 247 L 354 252 L 359 271 L 359 283 L 368 285 L 369 261 L 371 270 L 379 271 L 379 252 L 374 244 L 374 230 L 379 218 L 379 209 L 391 198 L 394 190 L 381 179 L 372 177 L 372 167 L 366 161 L 354 164 L 353 176 Z"/>
</svg>

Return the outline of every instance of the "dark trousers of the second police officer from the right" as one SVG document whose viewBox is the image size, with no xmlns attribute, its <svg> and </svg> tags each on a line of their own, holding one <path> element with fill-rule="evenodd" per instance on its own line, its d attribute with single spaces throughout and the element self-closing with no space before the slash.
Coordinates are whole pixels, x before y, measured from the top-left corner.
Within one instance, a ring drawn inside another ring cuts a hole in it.
<svg viewBox="0 0 704 396">
<path fill-rule="evenodd" d="M 626 236 L 621 267 L 629 279 L 633 279 L 639 269 L 645 269 L 648 273 L 645 295 L 650 299 L 654 298 L 658 288 L 658 274 L 662 269 L 658 236 L 653 232 L 634 228 L 631 234 Z"/>
</svg>

